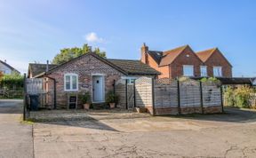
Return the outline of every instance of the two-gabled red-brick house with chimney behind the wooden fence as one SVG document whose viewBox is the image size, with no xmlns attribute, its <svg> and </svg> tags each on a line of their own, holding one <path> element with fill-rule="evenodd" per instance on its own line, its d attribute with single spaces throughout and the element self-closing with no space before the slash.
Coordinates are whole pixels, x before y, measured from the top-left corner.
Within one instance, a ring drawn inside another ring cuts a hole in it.
<svg viewBox="0 0 256 158">
<path fill-rule="evenodd" d="M 161 72 L 158 78 L 232 77 L 232 66 L 218 48 L 194 52 L 185 45 L 170 51 L 149 51 L 144 43 L 140 60 Z"/>
</svg>

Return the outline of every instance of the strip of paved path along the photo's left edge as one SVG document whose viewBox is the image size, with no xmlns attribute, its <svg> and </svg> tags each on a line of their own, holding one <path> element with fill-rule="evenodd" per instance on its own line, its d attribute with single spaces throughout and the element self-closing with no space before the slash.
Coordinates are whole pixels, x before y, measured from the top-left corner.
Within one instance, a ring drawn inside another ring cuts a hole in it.
<svg viewBox="0 0 256 158">
<path fill-rule="evenodd" d="M 32 126 L 21 117 L 22 100 L 0 99 L 0 158 L 33 157 Z"/>
</svg>

